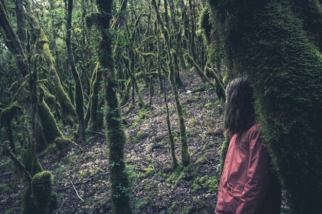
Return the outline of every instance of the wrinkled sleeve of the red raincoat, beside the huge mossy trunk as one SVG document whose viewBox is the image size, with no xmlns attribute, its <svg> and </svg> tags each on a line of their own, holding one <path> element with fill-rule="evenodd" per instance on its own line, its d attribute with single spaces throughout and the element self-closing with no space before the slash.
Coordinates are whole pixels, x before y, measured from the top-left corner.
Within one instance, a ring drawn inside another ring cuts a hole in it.
<svg viewBox="0 0 322 214">
<path fill-rule="evenodd" d="M 244 186 L 235 214 L 258 214 L 263 207 L 270 179 L 270 156 L 262 144 L 261 133 L 249 133 L 248 182 Z"/>
</svg>

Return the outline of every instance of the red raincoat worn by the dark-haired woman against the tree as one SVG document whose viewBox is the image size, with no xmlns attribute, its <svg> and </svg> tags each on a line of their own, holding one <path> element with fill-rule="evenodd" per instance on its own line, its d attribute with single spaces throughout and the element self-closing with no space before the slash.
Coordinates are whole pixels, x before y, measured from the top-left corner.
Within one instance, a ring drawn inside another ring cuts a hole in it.
<svg viewBox="0 0 322 214">
<path fill-rule="evenodd" d="M 231 138 L 220 178 L 216 214 L 280 214 L 281 187 L 254 124 Z"/>
</svg>

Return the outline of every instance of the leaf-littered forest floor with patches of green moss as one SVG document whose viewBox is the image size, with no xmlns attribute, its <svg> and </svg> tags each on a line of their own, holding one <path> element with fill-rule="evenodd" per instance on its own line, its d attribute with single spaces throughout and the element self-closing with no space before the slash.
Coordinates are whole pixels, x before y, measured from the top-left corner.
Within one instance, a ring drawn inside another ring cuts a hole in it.
<svg viewBox="0 0 322 214">
<path fill-rule="evenodd" d="M 191 170 L 171 172 L 164 94 L 158 94 L 151 108 L 128 113 L 122 110 L 128 142 L 126 165 L 133 190 L 131 206 L 135 213 L 213 213 L 217 198 L 220 147 L 224 141 L 222 107 L 214 90 L 202 83 L 194 71 L 182 74 L 180 100 L 183 106 Z M 176 158 L 181 160 L 180 134 L 170 88 L 168 105 Z M 146 104 L 149 90 L 141 87 Z M 44 170 L 53 174 L 58 208 L 54 213 L 112 213 L 109 190 L 108 142 L 104 132 L 82 146 L 71 147 L 66 157 L 39 158 Z M 17 179 L 8 158 L 1 158 L 0 213 L 21 213 L 23 184 Z M 283 197 L 282 212 L 289 213 Z"/>
</svg>

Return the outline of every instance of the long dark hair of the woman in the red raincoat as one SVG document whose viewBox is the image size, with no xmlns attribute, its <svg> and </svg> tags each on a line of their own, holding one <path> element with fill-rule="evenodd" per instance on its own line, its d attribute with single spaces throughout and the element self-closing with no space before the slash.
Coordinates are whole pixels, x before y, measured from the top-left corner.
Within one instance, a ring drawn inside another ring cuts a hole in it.
<svg viewBox="0 0 322 214">
<path fill-rule="evenodd" d="M 231 81 L 226 87 L 224 108 L 225 134 L 232 137 L 255 123 L 253 88 L 246 77 Z"/>
</svg>

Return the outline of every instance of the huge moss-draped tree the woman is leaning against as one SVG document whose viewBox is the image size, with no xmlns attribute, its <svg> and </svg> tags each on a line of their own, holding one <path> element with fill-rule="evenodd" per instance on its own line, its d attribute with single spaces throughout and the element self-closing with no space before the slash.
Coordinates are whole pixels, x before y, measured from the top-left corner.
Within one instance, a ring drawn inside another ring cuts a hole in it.
<svg viewBox="0 0 322 214">
<path fill-rule="evenodd" d="M 222 62 L 232 76 L 248 75 L 254 87 L 261 130 L 292 211 L 319 213 L 322 55 L 312 25 L 322 27 L 321 5 L 315 0 L 208 4 L 214 41 L 225 47 Z"/>
</svg>

